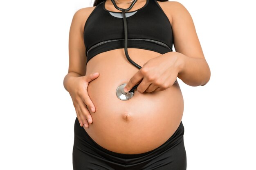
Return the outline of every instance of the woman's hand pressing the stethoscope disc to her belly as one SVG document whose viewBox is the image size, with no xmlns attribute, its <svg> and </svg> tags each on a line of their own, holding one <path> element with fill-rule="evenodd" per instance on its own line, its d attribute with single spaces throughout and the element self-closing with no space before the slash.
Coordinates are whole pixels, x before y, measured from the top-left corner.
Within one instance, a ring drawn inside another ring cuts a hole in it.
<svg viewBox="0 0 256 170">
<path fill-rule="evenodd" d="M 182 60 L 175 55 L 176 52 L 167 52 L 144 63 L 143 67 L 130 78 L 124 88 L 124 92 L 129 92 L 136 84 L 137 91 L 159 92 L 171 87 L 181 72 Z"/>
</svg>

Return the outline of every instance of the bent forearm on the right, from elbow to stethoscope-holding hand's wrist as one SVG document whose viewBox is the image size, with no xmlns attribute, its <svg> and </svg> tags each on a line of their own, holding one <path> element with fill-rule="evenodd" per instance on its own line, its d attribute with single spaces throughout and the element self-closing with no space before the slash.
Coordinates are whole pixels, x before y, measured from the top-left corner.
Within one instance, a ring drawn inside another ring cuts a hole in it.
<svg viewBox="0 0 256 170">
<path fill-rule="evenodd" d="M 202 58 L 188 57 L 180 52 L 175 52 L 178 63 L 181 64 L 178 78 L 190 86 L 205 85 L 211 76 L 209 65 Z"/>
</svg>

